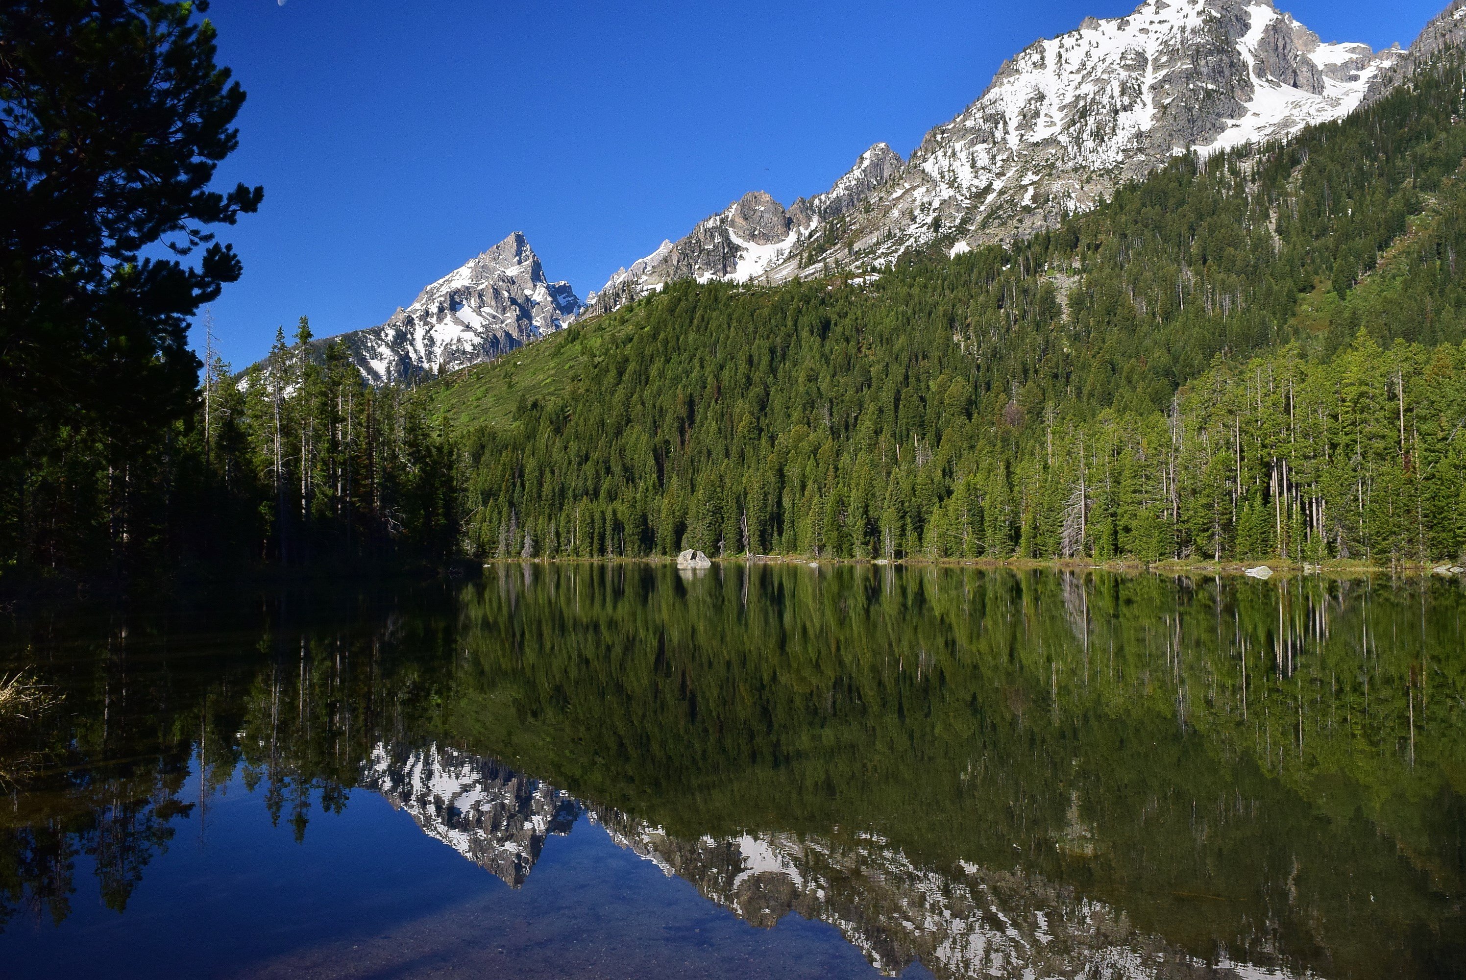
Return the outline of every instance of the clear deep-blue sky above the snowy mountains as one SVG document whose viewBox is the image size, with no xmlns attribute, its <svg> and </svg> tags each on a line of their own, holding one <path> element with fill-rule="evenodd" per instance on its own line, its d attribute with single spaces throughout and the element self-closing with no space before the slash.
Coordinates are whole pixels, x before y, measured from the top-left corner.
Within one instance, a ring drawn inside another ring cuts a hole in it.
<svg viewBox="0 0 1466 980">
<path fill-rule="evenodd" d="M 277 324 L 375 326 L 509 232 L 582 296 L 746 191 L 818 194 L 906 157 L 1003 59 L 1139 0 L 216 0 L 249 94 L 220 180 L 245 277 L 223 355 Z M 1324 40 L 1409 45 L 1447 0 L 1277 0 Z M 195 342 L 198 342 L 195 332 Z"/>
</svg>

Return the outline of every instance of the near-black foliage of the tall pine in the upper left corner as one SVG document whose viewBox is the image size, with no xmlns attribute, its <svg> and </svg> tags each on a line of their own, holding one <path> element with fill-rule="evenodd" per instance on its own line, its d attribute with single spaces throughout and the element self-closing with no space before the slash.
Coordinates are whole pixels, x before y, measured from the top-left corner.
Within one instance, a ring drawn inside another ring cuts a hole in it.
<svg viewBox="0 0 1466 980">
<path fill-rule="evenodd" d="M 240 273 L 208 226 L 262 197 L 210 189 L 245 92 L 207 6 L 0 9 L 0 458 L 57 425 L 145 439 L 192 402 L 188 318 Z"/>
</svg>

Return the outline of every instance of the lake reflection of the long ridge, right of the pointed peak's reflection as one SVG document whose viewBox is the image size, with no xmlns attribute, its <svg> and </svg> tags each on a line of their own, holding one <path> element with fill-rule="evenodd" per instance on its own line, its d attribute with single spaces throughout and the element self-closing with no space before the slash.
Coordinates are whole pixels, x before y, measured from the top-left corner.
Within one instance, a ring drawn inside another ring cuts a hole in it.
<svg viewBox="0 0 1466 980">
<path fill-rule="evenodd" d="M 943 979 L 1290 976 L 1226 958 L 1208 965 L 1067 886 L 966 863 L 944 874 L 869 833 L 689 842 L 622 814 L 601 819 L 619 845 L 749 924 L 773 927 L 792 911 L 827 921 L 885 976 L 916 961 Z"/>
</svg>

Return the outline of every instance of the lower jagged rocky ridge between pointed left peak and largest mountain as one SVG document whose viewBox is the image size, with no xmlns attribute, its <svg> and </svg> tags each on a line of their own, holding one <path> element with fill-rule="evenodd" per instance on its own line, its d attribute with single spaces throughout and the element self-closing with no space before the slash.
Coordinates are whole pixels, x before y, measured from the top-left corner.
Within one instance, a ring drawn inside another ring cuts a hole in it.
<svg viewBox="0 0 1466 980">
<path fill-rule="evenodd" d="M 798 268 L 796 249 L 824 223 L 856 208 L 896 175 L 902 158 L 878 142 L 855 161 L 830 191 L 799 198 L 787 208 L 764 191 L 751 191 L 723 211 L 699 222 L 676 242 L 619 268 L 586 298 L 591 312 L 607 312 L 657 292 L 668 282 L 784 282 Z"/>
</svg>

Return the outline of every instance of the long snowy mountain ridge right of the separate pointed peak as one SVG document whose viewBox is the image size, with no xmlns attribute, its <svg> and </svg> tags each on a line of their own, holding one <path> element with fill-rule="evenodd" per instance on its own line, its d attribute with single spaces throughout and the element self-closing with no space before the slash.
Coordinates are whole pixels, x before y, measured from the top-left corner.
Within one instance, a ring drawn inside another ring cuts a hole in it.
<svg viewBox="0 0 1466 980">
<path fill-rule="evenodd" d="M 953 252 L 1010 241 L 1177 153 L 1344 116 L 1403 57 L 1327 44 L 1271 0 L 1145 0 L 1124 18 L 1088 18 L 1004 63 L 905 164 L 877 144 L 828 192 L 787 211 L 746 195 L 617 271 L 594 310 L 673 279 L 786 282 L 881 266 L 937 241 Z M 768 216 L 756 233 L 745 230 L 752 211 Z"/>
</svg>

